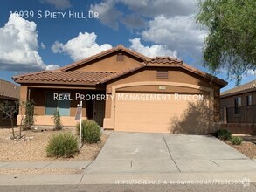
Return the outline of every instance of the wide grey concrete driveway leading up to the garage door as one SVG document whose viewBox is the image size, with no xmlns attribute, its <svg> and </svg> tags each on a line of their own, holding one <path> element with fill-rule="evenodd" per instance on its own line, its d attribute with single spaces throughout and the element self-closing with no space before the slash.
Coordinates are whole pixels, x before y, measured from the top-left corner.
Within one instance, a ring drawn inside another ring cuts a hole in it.
<svg viewBox="0 0 256 192">
<path fill-rule="evenodd" d="M 256 162 L 215 137 L 114 132 L 86 172 L 256 171 Z"/>
</svg>

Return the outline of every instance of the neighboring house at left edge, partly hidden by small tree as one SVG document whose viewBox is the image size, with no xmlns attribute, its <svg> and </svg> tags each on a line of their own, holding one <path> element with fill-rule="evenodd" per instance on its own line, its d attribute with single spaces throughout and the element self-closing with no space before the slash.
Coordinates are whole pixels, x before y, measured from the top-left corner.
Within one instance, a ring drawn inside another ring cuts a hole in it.
<svg viewBox="0 0 256 192">
<path fill-rule="evenodd" d="M 0 105 L 4 101 L 8 101 L 10 103 L 13 103 L 14 101 L 17 101 L 19 99 L 19 86 L 9 82 L 0 79 Z M 16 125 L 16 118 L 13 120 L 13 122 Z M 6 117 L 4 113 L 0 111 L 0 127 L 9 127 L 11 126 L 10 119 Z"/>
</svg>

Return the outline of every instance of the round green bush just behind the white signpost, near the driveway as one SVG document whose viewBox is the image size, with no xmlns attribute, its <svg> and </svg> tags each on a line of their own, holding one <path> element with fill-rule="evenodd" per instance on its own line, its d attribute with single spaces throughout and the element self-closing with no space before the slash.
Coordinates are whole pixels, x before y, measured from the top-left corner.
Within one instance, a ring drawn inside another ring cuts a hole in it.
<svg viewBox="0 0 256 192">
<path fill-rule="evenodd" d="M 77 134 L 80 134 L 80 123 L 76 125 Z M 87 143 L 100 141 L 100 126 L 94 120 L 82 121 L 82 140 Z"/>
</svg>

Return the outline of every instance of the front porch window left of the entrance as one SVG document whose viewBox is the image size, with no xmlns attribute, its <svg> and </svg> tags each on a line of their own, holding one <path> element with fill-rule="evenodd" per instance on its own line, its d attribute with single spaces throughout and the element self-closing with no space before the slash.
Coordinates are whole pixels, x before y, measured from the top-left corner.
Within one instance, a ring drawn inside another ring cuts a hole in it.
<svg viewBox="0 0 256 192">
<path fill-rule="evenodd" d="M 59 114 L 61 116 L 69 116 L 70 115 L 70 93 L 55 93 L 58 95 L 62 95 L 59 99 L 54 99 L 53 92 L 46 93 L 46 101 L 45 101 L 45 114 L 53 115 L 57 109 L 59 109 Z M 60 98 L 62 98 L 60 100 Z"/>
</svg>

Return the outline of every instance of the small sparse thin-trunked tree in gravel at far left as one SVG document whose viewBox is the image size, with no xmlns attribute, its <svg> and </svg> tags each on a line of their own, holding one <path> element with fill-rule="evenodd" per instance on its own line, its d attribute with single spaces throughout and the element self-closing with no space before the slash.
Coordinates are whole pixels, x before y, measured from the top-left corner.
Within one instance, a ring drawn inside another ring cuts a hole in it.
<svg viewBox="0 0 256 192">
<path fill-rule="evenodd" d="M 8 100 L 3 101 L 0 104 L 0 111 L 5 115 L 5 118 L 10 119 L 10 125 L 12 129 L 12 138 L 15 138 L 13 119 L 18 113 L 18 101 L 10 102 Z"/>
</svg>

